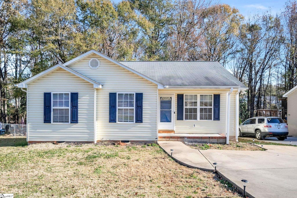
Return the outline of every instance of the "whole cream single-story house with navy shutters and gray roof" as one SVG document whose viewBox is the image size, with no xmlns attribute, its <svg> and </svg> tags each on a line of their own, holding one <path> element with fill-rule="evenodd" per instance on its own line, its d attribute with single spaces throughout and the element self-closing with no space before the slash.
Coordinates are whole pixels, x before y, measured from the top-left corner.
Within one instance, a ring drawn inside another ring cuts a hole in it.
<svg viewBox="0 0 297 198">
<path fill-rule="evenodd" d="M 29 143 L 152 142 L 159 132 L 229 143 L 247 89 L 217 61 L 115 61 L 96 50 L 16 86 L 27 92 Z"/>
</svg>

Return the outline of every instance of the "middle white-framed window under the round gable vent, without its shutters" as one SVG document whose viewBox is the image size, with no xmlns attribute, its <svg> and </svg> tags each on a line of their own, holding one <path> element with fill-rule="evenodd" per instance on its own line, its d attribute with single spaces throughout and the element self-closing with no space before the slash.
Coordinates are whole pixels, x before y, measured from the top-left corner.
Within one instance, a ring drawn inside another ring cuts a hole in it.
<svg viewBox="0 0 297 198">
<path fill-rule="evenodd" d="M 135 99 L 134 93 L 118 93 L 118 104 L 117 104 L 117 112 L 118 112 L 118 122 L 134 122 L 135 115 Z"/>
</svg>

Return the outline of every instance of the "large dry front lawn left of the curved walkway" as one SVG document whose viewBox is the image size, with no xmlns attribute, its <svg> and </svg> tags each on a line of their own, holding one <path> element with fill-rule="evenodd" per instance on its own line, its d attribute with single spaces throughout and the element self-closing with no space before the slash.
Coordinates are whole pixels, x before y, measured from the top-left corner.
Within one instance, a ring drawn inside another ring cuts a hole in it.
<svg viewBox="0 0 297 198">
<path fill-rule="evenodd" d="M 0 161 L 0 192 L 15 197 L 239 196 L 214 173 L 177 164 L 156 144 L 1 147 Z"/>
</svg>

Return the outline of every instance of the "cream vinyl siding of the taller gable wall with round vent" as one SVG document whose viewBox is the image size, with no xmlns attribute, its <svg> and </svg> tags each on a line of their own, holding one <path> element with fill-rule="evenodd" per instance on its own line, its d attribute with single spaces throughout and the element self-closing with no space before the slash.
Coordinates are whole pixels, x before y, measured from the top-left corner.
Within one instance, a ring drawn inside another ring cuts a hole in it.
<svg viewBox="0 0 297 198">
<path fill-rule="evenodd" d="M 98 58 L 100 66 L 94 70 L 89 60 Z M 97 90 L 97 140 L 155 141 L 157 138 L 157 85 L 132 72 L 91 55 L 69 66 L 80 74 L 103 85 Z M 110 123 L 109 93 L 143 93 L 143 123 Z"/>
</svg>

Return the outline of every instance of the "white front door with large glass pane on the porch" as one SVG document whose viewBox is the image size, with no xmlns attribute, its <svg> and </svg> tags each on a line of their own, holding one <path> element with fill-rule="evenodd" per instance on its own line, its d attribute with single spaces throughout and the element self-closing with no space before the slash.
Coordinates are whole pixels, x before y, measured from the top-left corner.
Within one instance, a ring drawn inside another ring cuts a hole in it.
<svg viewBox="0 0 297 198">
<path fill-rule="evenodd" d="M 173 130 L 174 122 L 174 95 L 159 95 L 159 123 L 162 130 Z"/>
</svg>

